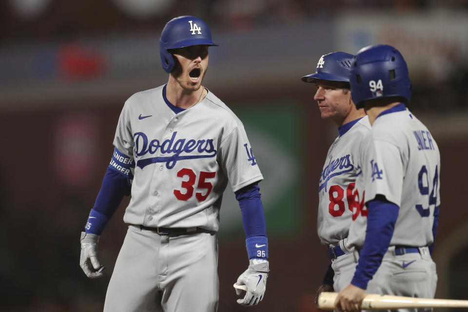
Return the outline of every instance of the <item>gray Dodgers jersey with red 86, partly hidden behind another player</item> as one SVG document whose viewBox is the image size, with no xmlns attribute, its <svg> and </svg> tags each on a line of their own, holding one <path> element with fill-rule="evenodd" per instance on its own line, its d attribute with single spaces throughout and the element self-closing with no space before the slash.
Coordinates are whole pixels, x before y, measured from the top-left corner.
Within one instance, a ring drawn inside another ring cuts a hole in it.
<svg viewBox="0 0 468 312">
<path fill-rule="evenodd" d="M 317 233 L 322 244 L 336 246 L 348 237 L 352 207 L 349 204 L 355 188 L 356 160 L 359 145 L 370 131 L 367 116 L 356 122 L 343 136 L 337 137 L 330 149 L 319 180 Z"/>
</svg>

